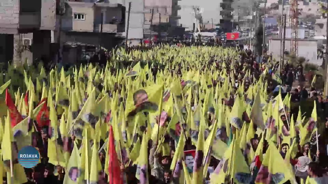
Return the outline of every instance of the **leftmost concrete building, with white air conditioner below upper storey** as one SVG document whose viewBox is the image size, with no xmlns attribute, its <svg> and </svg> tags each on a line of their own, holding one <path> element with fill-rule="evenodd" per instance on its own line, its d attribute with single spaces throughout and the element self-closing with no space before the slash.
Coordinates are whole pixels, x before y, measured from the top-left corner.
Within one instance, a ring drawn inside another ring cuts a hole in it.
<svg viewBox="0 0 328 184">
<path fill-rule="evenodd" d="M 0 38 L 6 41 L 0 48 L 2 61 L 13 60 L 19 64 L 49 56 L 52 45 L 50 42 L 43 43 L 46 41 L 43 38 L 49 38 L 55 29 L 55 13 L 55 0 L 2 0 Z M 32 32 L 34 34 L 27 34 Z M 32 52 L 35 53 L 33 56 Z"/>
</svg>

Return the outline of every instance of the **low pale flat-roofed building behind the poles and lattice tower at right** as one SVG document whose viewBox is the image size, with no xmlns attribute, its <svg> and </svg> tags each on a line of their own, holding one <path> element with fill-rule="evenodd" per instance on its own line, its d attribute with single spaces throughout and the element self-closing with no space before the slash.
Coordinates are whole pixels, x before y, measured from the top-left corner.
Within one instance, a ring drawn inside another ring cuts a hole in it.
<svg viewBox="0 0 328 184">
<path fill-rule="evenodd" d="M 316 65 L 321 65 L 322 61 L 319 61 L 317 58 L 317 40 L 313 39 L 297 39 L 298 42 L 298 56 L 304 57 L 308 62 Z M 272 57 L 277 61 L 280 60 L 280 39 L 270 38 L 269 39 L 269 53 L 272 54 Z M 290 51 L 291 48 L 291 39 L 286 38 L 285 41 L 285 51 Z"/>
</svg>

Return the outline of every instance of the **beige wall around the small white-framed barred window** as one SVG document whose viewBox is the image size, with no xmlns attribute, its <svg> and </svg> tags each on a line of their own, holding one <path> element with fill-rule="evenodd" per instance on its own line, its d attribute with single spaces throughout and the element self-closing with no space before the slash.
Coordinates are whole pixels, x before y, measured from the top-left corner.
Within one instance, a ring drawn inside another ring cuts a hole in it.
<svg viewBox="0 0 328 184">
<path fill-rule="evenodd" d="M 72 8 L 72 14 L 68 14 L 68 16 L 72 16 L 73 20 L 72 31 L 93 32 L 93 3 L 68 2 L 68 4 Z M 85 14 L 85 20 L 74 20 L 74 13 Z"/>
</svg>

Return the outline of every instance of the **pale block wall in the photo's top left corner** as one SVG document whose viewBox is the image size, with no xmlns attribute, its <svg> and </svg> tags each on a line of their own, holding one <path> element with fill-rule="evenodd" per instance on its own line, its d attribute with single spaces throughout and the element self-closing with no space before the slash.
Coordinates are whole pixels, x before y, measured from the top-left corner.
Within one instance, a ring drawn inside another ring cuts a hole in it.
<svg viewBox="0 0 328 184">
<path fill-rule="evenodd" d="M 18 33 L 19 0 L 1 0 L 0 33 Z"/>
</svg>

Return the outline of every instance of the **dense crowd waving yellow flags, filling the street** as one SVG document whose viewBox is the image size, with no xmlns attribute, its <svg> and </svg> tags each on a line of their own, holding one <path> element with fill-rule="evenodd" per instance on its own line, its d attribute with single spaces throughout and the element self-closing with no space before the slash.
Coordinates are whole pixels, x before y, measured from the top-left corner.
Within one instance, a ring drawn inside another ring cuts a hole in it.
<svg viewBox="0 0 328 184">
<path fill-rule="evenodd" d="M 301 66 L 280 74 L 270 60 L 158 46 L 118 49 L 105 66 L 9 65 L 0 180 L 326 184 L 328 99 L 292 87 Z M 17 159 L 25 146 L 40 154 L 32 168 Z"/>
</svg>

